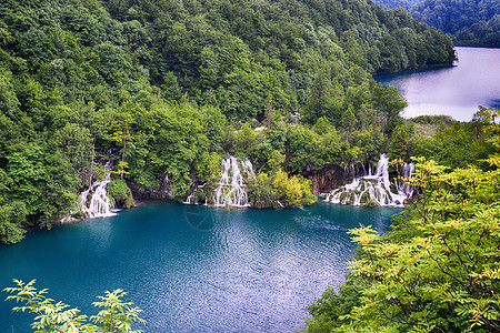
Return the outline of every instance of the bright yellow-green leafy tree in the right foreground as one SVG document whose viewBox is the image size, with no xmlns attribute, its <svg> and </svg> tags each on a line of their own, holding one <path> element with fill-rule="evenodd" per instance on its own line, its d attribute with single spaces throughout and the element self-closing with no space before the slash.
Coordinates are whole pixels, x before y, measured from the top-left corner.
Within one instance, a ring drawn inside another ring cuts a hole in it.
<svg viewBox="0 0 500 333">
<path fill-rule="evenodd" d="M 411 183 L 426 189 L 419 214 L 406 222 L 414 234 L 382 240 L 371 228 L 352 231 L 360 246 L 353 275 L 369 283 L 362 305 L 349 314 L 353 326 L 500 330 L 497 171 L 444 173 L 421 160 Z"/>
</svg>

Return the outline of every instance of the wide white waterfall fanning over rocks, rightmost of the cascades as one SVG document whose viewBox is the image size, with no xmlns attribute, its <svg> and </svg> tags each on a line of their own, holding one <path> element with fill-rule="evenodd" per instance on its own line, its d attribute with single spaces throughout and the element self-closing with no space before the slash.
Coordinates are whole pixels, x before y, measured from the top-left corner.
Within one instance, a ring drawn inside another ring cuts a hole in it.
<svg viewBox="0 0 500 333">
<path fill-rule="evenodd" d="M 407 167 L 408 165 L 408 167 Z M 410 176 L 414 172 L 414 164 L 406 164 L 402 176 Z M 412 189 L 403 181 L 398 180 L 396 189 L 398 193 L 391 192 L 389 180 L 389 158 L 386 154 L 380 155 L 379 163 L 374 174 L 356 178 L 352 183 L 333 190 L 327 194 L 324 200 L 333 203 L 353 204 L 353 205 L 389 205 L 403 206 L 404 200 L 411 196 Z"/>
</svg>

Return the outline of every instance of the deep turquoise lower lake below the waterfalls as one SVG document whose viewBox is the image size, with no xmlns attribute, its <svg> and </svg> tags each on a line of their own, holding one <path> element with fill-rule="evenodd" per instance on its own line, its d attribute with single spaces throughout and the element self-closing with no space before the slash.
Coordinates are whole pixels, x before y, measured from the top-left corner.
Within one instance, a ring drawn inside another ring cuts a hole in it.
<svg viewBox="0 0 500 333">
<path fill-rule="evenodd" d="M 97 295 L 123 289 L 143 310 L 144 332 L 293 332 L 306 306 L 343 281 L 354 250 L 348 230 L 386 232 L 397 212 L 150 203 L 0 248 L 0 286 L 37 279 L 49 296 L 88 314 Z M 32 315 L 11 314 L 14 304 L 0 302 L 0 332 L 32 332 Z"/>
</svg>

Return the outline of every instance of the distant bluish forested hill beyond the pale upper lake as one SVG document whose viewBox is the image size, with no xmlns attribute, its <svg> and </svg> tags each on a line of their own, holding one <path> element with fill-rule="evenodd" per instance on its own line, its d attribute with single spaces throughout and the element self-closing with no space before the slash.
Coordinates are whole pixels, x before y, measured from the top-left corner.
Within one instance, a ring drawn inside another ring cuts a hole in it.
<svg viewBox="0 0 500 333">
<path fill-rule="evenodd" d="M 384 8 L 402 7 L 421 22 L 449 33 L 459 46 L 500 47 L 500 2 L 497 0 L 377 0 Z"/>
</svg>

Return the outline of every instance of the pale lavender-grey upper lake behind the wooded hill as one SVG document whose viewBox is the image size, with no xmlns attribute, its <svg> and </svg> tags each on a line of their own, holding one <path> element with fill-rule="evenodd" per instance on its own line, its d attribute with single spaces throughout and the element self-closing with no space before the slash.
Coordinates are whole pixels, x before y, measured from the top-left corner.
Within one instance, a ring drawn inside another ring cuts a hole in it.
<svg viewBox="0 0 500 333">
<path fill-rule="evenodd" d="M 500 108 L 500 49 L 456 48 L 452 67 L 379 75 L 408 101 L 402 115 L 446 114 L 470 121 L 478 105 Z"/>
</svg>

